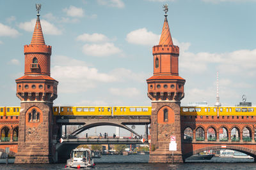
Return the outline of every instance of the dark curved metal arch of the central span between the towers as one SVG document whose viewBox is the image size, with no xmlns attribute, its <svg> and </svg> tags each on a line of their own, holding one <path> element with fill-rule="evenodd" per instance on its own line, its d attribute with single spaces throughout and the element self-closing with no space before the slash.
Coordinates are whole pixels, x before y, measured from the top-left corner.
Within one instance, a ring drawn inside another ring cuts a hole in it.
<svg viewBox="0 0 256 170">
<path fill-rule="evenodd" d="M 137 132 L 133 131 L 132 129 L 130 129 L 126 125 L 115 124 L 115 123 L 111 123 L 111 122 L 95 122 L 95 123 L 92 123 L 92 124 L 85 124 L 83 127 L 80 127 L 76 131 L 72 132 L 70 135 L 76 136 L 77 134 L 80 134 L 81 132 L 86 131 L 87 129 L 90 129 L 92 127 L 102 126 L 102 125 L 111 125 L 111 126 L 116 126 L 116 127 L 122 127 L 124 129 L 126 129 L 127 131 L 130 131 L 133 134 L 136 134 L 136 136 L 140 136 L 140 134 L 138 134 Z"/>
</svg>

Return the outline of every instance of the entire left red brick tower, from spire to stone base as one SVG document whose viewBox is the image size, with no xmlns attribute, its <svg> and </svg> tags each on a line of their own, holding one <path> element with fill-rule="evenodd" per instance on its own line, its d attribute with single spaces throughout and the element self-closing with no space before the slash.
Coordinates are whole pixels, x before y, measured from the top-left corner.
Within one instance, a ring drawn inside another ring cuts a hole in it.
<svg viewBox="0 0 256 170">
<path fill-rule="evenodd" d="M 15 163 L 52 162 L 52 102 L 58 81 L 50 76 L 52 47 L 45 45 L 40 24 L 40 5 L 30 45 L 24 46 L 24 76 L 16 80 L 20 99 L 19 142 Z"/>
</svg>

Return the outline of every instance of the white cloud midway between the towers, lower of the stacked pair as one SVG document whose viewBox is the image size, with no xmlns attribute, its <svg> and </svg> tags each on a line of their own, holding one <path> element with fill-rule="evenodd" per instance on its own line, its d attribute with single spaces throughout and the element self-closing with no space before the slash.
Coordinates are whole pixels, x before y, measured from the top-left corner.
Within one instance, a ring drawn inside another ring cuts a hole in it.
<svg viewBox="0 0 256 170">
<path fill-rule="evenodd" d="M 106 57 L 109 55 L 114 55 L 116 53 L 120 53 L 118 47 L 116 47 L 113 43 L 104 43 L 104 44 L 86 44 L 83 46 L 83 53 L 86 55 L 92 55 L 97 57 Z"/>
</svg>

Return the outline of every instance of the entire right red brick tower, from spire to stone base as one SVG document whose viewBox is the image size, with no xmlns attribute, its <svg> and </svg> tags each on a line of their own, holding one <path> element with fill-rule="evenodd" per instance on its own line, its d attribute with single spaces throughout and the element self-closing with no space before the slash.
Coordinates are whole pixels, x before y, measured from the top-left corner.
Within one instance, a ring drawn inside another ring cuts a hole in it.
<svg viewBox="0 0 256 170">
<path fill-rule="evenodd" d="M 147 80 L 148 97 L 152 100 L 149 162 L 182 162 L 180 100 L 184 97 L 185 80 L 179 76 L 179 46 L 173 45 L 166 13 L 164 17 L 159 45 L 153 46 L 154 75 Z M 170 136 L 175 136 L 177 142 L 173 157 Z"/>
</svg>

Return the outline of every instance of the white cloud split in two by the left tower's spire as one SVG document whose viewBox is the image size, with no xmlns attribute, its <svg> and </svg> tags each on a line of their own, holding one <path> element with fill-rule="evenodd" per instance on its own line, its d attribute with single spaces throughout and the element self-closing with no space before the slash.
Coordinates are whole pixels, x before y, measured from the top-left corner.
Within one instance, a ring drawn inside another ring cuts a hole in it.
<svg viewBox="0 0 256 170">
<path fill-rule="evenodd" d="M 47 22 L 46 20 L 40 20 L 42 25 L 42 30 L 44 34 L 49 35 L 60 35 L 62 34 L 61 30 L 58 29 L 55 25 Z M 19 24 L 20 29 L 24 29 L 25 31 L 33 32 L 36 24 L 36 19 L 32 19 L 29 22 L 21 22 Z"/>
</svg>

